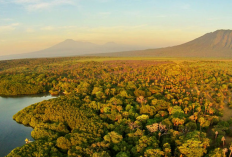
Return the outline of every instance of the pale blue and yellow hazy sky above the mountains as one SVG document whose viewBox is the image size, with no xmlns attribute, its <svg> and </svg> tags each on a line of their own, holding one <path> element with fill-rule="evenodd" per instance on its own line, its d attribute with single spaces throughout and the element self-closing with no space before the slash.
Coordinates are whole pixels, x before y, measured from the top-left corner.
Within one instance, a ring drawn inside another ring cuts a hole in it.
<svg viewBox="0 0 232 157">
<path fill-rule="evenodd" d="M 232 28 L 230 0 L 0 0 L 0 55 L 65 39 L 163 47 Z"/>
</svg>

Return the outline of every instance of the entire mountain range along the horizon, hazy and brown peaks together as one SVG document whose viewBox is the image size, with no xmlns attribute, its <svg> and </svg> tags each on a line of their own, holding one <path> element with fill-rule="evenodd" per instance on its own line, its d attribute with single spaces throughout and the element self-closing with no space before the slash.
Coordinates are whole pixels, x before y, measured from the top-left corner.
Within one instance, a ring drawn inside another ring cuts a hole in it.
<svg viewBox="0 0 232 157">
<path fill-rule="evenodd" d="M 232 30 L 217 30 L 187 43 L 158 49 L 109 42 L 97 45 L 67 39 L 50 48 L 32 53 L 0 56 L 0 60 L 66 56 L 109 57 L 205 57 L 232 58 Z"/>
</svg>

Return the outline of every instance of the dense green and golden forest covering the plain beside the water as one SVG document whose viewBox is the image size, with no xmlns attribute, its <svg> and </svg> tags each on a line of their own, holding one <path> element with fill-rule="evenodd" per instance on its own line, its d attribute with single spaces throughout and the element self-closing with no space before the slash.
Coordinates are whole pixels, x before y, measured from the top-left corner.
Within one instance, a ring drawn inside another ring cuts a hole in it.
<svg viewBox="0 0 232 157">
<path fill-rule="evenodd" d="M 50 92 L 13 119 L 34 142 L 7 157 L 231 157 L 232 61 L 0 61 L 0 95 Z"/>
</svg>

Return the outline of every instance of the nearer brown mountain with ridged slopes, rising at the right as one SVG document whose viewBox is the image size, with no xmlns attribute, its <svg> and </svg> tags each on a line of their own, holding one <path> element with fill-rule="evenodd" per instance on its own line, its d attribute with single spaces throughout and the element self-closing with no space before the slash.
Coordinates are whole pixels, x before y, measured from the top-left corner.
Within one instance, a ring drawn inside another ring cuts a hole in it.
<svg viewBox="0 0 232 157">
<path fill-rule="evenodd" d="M 217 30 L 190 42 L 166 48 L 99 54 L 98 56 L 232 57 L 232 30 Z"/>
</svg>

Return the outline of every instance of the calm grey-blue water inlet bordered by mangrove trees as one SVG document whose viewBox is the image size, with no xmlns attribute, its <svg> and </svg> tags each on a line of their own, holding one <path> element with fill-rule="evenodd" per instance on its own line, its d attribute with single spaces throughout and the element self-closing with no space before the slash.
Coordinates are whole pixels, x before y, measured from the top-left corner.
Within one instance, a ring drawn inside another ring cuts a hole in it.
<svg viewBox="0 0 232 157">
<path fill-rule="evenodd" d="M 32 128 L 25 127 L 13 120 L 13 115 L 23 108 L 54 98 L 52 96 L 0 97 L 0 157 L 4 157 L 16 147 L 25 144 L 25 139 L 32 140 Z"/>
</svg>

